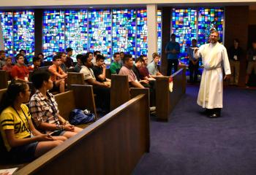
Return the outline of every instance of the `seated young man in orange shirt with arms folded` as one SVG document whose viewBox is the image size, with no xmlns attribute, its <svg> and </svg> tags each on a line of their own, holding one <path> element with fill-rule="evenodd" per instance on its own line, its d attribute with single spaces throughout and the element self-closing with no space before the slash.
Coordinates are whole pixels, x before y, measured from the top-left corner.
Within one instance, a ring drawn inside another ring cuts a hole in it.
<svg viewBox="0 0 256 175">
<path fill-rule="evenodd" d="M 59 90 L 60 93 L 65 91 L 65 79 L 67 74 L 61 69 L 61 58 L 59 55 L 53 56 L 53 65 L 49 67 L 51 80 L 53 81 L 53 90 Z"/>
</svg>

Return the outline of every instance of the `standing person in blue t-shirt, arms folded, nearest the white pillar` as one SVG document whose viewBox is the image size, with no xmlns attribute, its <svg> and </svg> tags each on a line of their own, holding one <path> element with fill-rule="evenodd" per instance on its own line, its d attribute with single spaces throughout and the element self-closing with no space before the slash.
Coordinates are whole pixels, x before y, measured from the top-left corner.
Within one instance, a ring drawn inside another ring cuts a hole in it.
<svg viewBox="0 0 256 175">
<path fill-rule="evenodd" d="M 167 53 L 167 76 L 170 76 L 172 69 L 178 70 L 178 54 L 180 52 L 180 45 L 176 42 L 176 35 L 171 34 L 170 42 L 165 47 L 165 53 Z"/>
</svg>

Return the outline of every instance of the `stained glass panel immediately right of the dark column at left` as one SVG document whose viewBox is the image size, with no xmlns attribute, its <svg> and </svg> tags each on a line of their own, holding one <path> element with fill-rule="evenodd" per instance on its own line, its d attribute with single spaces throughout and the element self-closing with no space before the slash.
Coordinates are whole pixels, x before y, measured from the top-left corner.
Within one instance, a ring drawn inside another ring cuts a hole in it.
<svg viewBox="0 0 256 175">
<path fill-rule="evenodd" d="M 43 15 L 42 52 L 51 61 L 53 52 L 65 51 L 65 23 L 63 10 L 47 10 Z"/>
</svg>

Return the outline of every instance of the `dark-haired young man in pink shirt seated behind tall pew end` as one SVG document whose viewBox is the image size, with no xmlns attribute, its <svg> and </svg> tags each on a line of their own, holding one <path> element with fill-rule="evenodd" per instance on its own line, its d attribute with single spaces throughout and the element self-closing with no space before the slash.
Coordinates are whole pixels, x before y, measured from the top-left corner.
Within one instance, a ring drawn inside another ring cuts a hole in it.
<svg viewBox="0 0 256 175">
<path fill-rule="evenodd" d="M 130 54 L 124 55 L 123 66 L 121 67 L 119 74 L 128 76 L 129 85 L 131 87 L 144 88 L 143 85 L 141 85 L 140 82 L 138 82 L 138 79 L 135 73 L 132 71 L 132 66 L 133 66 L 132 55 Z"/>
</svg>

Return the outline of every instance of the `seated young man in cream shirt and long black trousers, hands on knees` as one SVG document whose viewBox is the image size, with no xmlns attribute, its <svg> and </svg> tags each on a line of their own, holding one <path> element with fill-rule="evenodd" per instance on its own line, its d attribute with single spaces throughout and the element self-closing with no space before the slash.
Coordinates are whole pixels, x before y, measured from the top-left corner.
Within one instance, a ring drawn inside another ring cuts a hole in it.
<svg viewBox="0 0 256 175">
<path fill-rule="evenodd" d="M 80 73 L 83 73 L 84 81 L 94 86 L 94 93 L 96 96 L 96 105 L 102 108 L 105 112 L 110 111 L 110 88 L 109 85 L 104 84 L 103 82 L 98 82 L 94 77 L 94 71 L 92 71 L 91 58 L 89 55 L 83 55 L 81 57 L 82 69 Z"/>
</svg>

